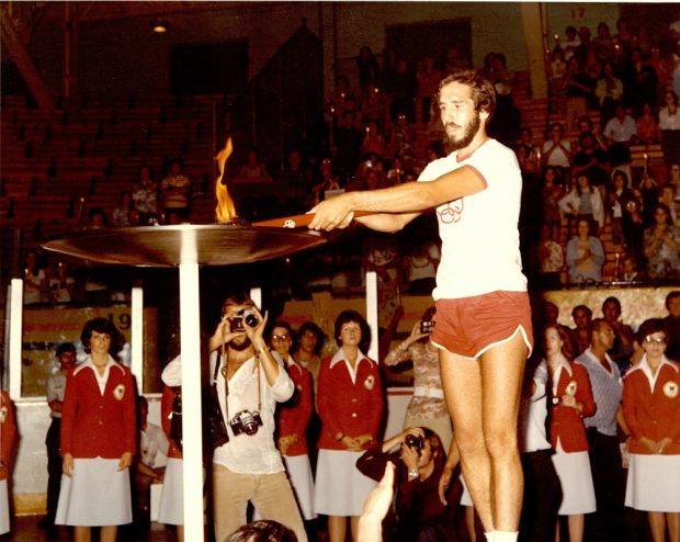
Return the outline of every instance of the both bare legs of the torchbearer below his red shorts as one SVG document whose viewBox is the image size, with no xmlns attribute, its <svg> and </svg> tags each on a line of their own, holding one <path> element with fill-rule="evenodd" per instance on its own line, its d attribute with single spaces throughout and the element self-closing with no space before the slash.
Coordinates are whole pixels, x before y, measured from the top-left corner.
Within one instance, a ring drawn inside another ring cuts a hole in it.
<svg viewBox="0 0 680 542">
<path fill-rule="evenodd" d="M 526 345 L 521 334 L 481 361 L 440 351 L 442 384 L 465 483 L 485 531 L 517 531 L 522 467 L 517 417 Z"/>
</svg>

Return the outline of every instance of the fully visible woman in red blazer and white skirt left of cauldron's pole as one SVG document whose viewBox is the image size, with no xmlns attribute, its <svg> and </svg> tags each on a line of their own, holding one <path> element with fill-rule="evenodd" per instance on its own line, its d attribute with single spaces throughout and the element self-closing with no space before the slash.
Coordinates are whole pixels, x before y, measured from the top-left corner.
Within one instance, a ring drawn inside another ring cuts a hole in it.
<svg viewBox="0 0 680 542">
<path fill-rule="evenodd" d="M 133 375 L 109 353 L 118 331 L 106 318 L 89 320 L 80 339 L 89 355 L 66 377 L 61 410 L 64 475 L 55 523 L 75 526 L 76 542 L 101 526 L 114 542 L 133 519 L 129 472 L 136 447 Z M 95 498 L 93 498 L 95 496 Z"/>
</svg>

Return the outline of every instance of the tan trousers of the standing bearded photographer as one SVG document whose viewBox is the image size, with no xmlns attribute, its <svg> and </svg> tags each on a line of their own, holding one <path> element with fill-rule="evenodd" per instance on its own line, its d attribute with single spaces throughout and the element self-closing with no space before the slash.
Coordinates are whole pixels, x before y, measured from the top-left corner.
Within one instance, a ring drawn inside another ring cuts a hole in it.
<svg viewBox="0 0 680 542">
<path fill-rule="evenodd" d="M 272 519 L 288 527 L 298 542 L 307 542 L 293 488 L 284 471 L 274 474 L 239 474 L 213 463 L 213 510 L 215 540 L 224 541 L 248 522 L 248 501 L 262 519 Z"/>
</svg>

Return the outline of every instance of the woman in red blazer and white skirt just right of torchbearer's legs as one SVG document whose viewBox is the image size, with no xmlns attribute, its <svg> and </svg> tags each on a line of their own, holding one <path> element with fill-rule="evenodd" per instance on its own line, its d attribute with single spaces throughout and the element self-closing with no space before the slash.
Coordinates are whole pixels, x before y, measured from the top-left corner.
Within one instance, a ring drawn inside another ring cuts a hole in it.
<svg viewBox="0 0 680 542">
<path fill-rule="evenodd" d="M 559 516 L 568 516 L 569 541 L 583 539 L 585 513 L 596 511 L 588 459 L 588 439 L 581 418 L 596 411 L 588 372 L 574 363 L 571 341 L 558 325 L 545 328 L 545 361 L 552 389 L 548 405 L 553 463 L 562 484 Z"/>
</svg>

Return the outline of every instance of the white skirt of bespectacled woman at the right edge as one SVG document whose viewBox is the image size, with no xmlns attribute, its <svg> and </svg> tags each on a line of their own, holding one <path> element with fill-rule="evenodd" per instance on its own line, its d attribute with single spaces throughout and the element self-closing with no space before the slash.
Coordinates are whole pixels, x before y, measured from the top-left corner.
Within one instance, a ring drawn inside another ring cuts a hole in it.
<svg viewBox="0 0 680 542">
<path fill-rule="evenodd" d="M 632 453 L 625 506 L 653 512 L 680 512 L 680 455 Z"/>
</svg>

